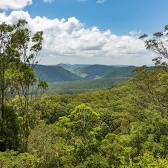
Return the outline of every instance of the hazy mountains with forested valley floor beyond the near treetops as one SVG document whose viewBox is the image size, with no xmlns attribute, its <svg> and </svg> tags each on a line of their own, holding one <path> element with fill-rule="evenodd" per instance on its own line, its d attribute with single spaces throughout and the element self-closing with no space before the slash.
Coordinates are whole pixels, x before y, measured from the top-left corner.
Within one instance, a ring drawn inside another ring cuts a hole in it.
<svg viewBox="0 0 168 168">
<path fill-rule="evenodd" d="M 36 65 L 37 77 L 49 84 L 49 92 L 77 93 L 111 88 L 129 80 L 135 66 L 58 64 Z"/>
</svg>

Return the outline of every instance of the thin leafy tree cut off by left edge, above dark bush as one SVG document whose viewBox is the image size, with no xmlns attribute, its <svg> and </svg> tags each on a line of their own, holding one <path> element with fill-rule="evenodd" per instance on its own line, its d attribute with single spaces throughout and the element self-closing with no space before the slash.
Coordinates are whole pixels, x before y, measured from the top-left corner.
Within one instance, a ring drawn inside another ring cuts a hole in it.
<svg viewBox="0 0 168 168">
<path fill-rule="evenodd" d="M 7 97 L 8 81 L 5 78 L 5 72 L 9 63 L 19 57 L 12 43 L 12 34 L 14 27 L 5 23 L 0 24 L 0 118 L 3 119 L 5 113 L 5 104 Z"/>
</svg>

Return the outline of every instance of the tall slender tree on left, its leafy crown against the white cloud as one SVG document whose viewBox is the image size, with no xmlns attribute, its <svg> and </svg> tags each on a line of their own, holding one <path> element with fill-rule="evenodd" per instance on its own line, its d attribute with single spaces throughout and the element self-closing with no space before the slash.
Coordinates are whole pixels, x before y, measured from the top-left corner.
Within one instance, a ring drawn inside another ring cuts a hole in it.
<svg viewBox="0 0 168 168">
<path fill-rule="evenodd" d="M 12 39 L 20 54 L 20 66 L 19 68 L 16 67 L 19 75 L 15 89 L 20 97 L 20 114 L 23 118 L 22 149 L 26 151 L 30 134 L 29 105 L 32 98 L 31 94 L 33 94 L 31 86 L 36 81 L 32 65 L 36 63 L 37 56 L 42 49 L 43 33 L 37 32 L 31 35 L 32 33 L 27 28 L 27 22 L 25 20 L 19 20 L 15 27 L 17 31 L 13 34 Z"/>
</svg>

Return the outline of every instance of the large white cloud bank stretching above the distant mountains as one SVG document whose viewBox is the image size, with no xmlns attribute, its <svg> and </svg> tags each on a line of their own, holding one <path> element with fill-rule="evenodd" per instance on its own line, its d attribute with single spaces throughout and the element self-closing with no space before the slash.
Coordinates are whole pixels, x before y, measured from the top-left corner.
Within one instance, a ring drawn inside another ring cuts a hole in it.
<svg viewBox="0 0 168 168">
<path fill-rule="evenodd" d="M 152 54 L 144 42 L 133 35 L 118 36 L 110 30 L 87 28 L 75 17 L 65 19 L 32 18 L 28 12 L 0 13 L 0 20 L 14 23 L 26 19 L 33 32 L 44 31 L 42 62 L 45 64 L 101 63 L 149 64 Z"/>
</svg>

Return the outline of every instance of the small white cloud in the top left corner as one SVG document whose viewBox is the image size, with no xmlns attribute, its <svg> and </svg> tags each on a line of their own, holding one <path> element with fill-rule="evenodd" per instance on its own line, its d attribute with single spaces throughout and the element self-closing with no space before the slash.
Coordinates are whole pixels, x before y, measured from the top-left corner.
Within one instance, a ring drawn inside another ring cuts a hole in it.
<svg viewBox="0 0 168 168">
<path fill-rule="evenodd" d="M 22 9 L 32 4 L 32 0 L 0 0 L 0 9 Z"/>
</svg>

